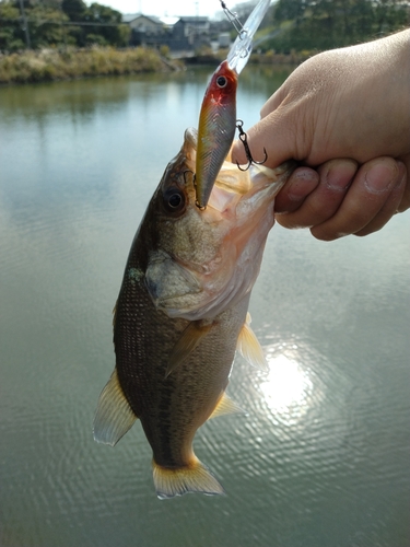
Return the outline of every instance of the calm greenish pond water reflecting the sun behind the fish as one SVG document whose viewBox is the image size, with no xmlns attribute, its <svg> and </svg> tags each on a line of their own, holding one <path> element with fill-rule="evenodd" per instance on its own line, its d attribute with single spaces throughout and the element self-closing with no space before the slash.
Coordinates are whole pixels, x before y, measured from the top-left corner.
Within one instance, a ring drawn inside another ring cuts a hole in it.
<svg viewBox="0 0 410 547">
<path fill-rule="evenodd" d="M 410 214 L 332 243 L 276 225 L 196 453 L 226 496 L 155 497 L 140 424 L 92 421 L 147 203 L 211 69 L 0 89 L 1 547 L 409 547 Z M 241 74 L 244 127 L 289 72 Z"/>
</svg>

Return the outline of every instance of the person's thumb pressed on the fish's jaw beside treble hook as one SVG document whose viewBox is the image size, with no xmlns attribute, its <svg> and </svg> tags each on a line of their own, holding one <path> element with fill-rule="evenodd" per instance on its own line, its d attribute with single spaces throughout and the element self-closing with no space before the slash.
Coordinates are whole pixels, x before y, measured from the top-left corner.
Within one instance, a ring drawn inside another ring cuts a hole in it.
<svg viewBox="0 0 410 547">
<path fill-rule="evenodd" d="M 263 165 L 271 168 L 286 160 L 303 159 L 297 151 L 296 128 L 291 118 L 292 116 L 286 113 L 286 109 L 280 106 L 246 131 L 247 144 L 256 162 L 263 160 L 263 150 L 267 154 Z M 232 160 L 239 164 L 249 161 L 244 143 L 239 140 L 235 141 L 232 148 Z"/>
</svg>

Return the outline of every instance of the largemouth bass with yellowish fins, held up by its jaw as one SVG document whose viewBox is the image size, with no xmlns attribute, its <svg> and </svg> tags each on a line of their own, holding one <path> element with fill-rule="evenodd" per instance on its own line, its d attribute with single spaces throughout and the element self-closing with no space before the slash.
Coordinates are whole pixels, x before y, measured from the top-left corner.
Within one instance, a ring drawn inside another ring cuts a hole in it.
<svg viewBox="0 0 410 547">
<path fill-rule="evenodd" d="M 238 410 L 225 395 L 235 350 L 265 363 L 247 309 L 274 196 L 293 168 L 242 172 L 225 161 L 200 210 L 196 151 L 187 129 L 132 242 L 115 309 L 116 366 L 94 419 L 95 440 L 110 445 L 140 419 L 161 499 L 223 493 L 192 440 L 210 417 Z"/>
</svg>

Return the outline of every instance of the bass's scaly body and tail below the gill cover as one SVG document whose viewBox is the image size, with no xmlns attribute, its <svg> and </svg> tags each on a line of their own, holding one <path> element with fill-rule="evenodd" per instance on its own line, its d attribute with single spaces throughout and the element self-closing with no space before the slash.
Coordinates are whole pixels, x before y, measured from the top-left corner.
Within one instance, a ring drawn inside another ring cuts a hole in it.
<svg viewBox="0 0 410 547">
<path fill-rule="evenodd" d="M 195 456 L 192 440 L 226 388 L 249 296 L 220 313 L 194 351 L 166 376 L 173 348 L 190 322 L 157 311 L 142 283 L 137 291 L 130 283 L 121 292 L 115 327 L 118 379 L 151 444 L 157 494 L 222 493 Z"/>
</svg>

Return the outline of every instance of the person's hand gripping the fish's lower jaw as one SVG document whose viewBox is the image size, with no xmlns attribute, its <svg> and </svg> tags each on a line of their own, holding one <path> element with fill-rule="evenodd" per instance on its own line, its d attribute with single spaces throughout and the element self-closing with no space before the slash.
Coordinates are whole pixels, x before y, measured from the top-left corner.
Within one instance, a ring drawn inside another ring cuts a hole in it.
<svg viewBox="0 0 410 547">
<path fill-rule="evenodd" d="M 276 199 L 277 221 L 325 241 L 383 228 L 410 207 L 410 30 L 301 65 L 247 131 L 265 165 L 301 165 Z M 246 162 L 241 142 L 233 160 Z"/>
</svg>

